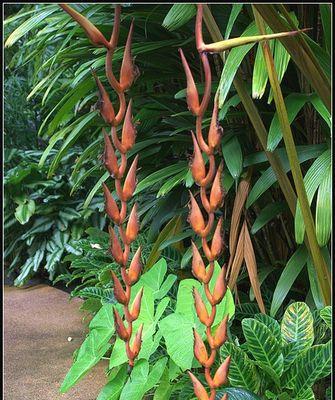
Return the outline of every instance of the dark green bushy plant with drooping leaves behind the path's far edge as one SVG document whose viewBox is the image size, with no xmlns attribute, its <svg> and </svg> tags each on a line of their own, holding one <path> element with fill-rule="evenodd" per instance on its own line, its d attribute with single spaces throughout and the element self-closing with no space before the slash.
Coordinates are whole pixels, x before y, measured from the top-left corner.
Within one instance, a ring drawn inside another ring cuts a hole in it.
<svg viewBox="0 0 335 400">
<path fill-rule="evenodd" d="M 41 154 L 41 150 L 5 150 L 4 256 L 6 273 L 15 277 L 17 286 L 36 274 L 54 280 L 66 271 L 62 258 L 75 252 L 72 245 L 84 230 L 89 226 L 102 229 L 105 224 L 98 214 L 101 201 L 82 210 L 80 198 L 69 198 L 69 166 L 77 150 L 68 154 L 50 179 L 47 166 L 38 166 Z"/>
</svg>

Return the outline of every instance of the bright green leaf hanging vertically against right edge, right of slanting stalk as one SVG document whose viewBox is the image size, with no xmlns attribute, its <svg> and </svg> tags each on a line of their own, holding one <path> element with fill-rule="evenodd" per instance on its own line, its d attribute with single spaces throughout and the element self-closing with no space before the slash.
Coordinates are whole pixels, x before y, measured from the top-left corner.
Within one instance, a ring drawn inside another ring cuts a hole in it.
<svg viewBox="0 0 335 400">
<path fill-rule="evenodd" d="M 316 200 L 316 238 L 321 247 L 326 246 L 332 230 L 332 166 L 329 165 L 322 179 Z"/>
</svg>

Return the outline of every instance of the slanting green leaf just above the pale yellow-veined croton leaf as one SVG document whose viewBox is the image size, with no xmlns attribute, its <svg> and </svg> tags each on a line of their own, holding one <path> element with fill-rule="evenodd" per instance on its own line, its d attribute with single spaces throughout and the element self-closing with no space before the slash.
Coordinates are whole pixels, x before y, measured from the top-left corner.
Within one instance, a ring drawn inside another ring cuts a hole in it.
<svg viewBox="0 0 335 400">
<path fill-rule="evenodd" d="M 305 246 L 300 246 L 292 257 L 288 260 L 273 293 L 270 315 L 274 317 L 280 306 L 283 304 L 288 292 L 298 275 L 306 265 L 308 251 Z"/>
</svg>

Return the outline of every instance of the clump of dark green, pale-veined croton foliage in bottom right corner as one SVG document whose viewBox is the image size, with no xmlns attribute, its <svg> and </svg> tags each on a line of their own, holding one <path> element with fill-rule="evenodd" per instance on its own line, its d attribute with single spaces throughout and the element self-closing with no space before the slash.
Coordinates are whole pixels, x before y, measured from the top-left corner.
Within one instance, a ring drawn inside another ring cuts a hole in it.
<svg viewBox="0 0 335 400">
<path fill-rule="evenodd" d="M 292 303 L 280 324 L 257 314 L 243 319 L 242 329 L 243 345 L 227 342 L 221 349 L 222 359 L 232 357 L 231 384 L 265 399 L 314 398 L 313 384 L 330 374 L 331 342 L 313 345 L 313 315 L 305 303 Z"/>
</svg>

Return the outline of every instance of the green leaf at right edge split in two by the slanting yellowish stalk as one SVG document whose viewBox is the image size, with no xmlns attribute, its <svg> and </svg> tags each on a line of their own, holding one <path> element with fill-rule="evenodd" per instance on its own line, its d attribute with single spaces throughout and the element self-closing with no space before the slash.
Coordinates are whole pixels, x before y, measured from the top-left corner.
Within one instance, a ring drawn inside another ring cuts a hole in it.
<svg viewBox="0 0 335 400">
<path fill-rule="evenodd" d="M 330 150 L 324 151 L 311 165 L 304 177 L 304 185 L 309 204 L 312 203 L 315 192 L 320 186 L 323 179 L 328 174 L 329 166 L 331 165 L 331 152 Z M 302 217 L 300 204 L 297 204 L 295 219 L 295 240 L 301 244 L 305 235 L 305 224 Z"/>
</svg>

